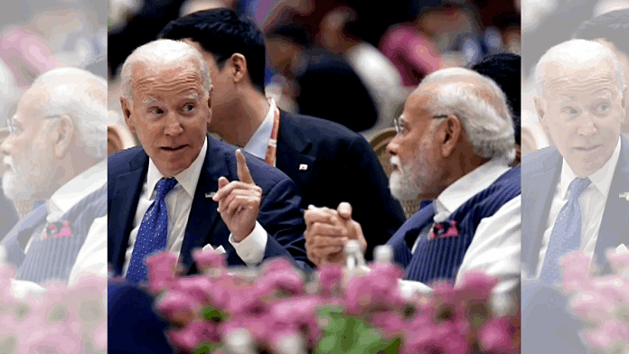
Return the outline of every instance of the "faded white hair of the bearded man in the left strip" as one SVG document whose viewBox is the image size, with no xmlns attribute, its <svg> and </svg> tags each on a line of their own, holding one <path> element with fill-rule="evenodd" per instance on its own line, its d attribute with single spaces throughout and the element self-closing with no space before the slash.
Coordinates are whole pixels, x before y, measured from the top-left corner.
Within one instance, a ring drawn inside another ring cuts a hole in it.
<svg viewBox="0 0 629 354">
<path fill-rule="evenodd" d="M 107 80 L 76 68 L 45 72 L 33 82 L 48 92 L 43 111 L 48 116 L 70 116 L 80 146 L 98 160 L 107 157 Z"/>
</svg>

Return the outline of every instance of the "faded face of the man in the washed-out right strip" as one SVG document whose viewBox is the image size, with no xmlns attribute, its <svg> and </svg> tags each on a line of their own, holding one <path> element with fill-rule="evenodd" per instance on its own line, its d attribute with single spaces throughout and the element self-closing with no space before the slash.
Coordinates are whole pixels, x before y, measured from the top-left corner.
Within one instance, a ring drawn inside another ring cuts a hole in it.
<svg viewBox="0 0 629 354">
<path fill-rule="evenodd" d="M 536 107 L 559 153 L 581 178 L 598 171 L 614 153 L 624 121 L 613 64 L 574 70 L 549 63 L 544 91 Z"/>
</svg>

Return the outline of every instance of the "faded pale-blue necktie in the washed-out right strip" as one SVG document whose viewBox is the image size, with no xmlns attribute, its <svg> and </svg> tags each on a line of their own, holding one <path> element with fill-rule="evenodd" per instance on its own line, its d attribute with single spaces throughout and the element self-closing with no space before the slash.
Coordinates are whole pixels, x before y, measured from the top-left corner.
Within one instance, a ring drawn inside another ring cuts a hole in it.
<svg viewBox="0 0 629 354">
<path fill-rule="evenodd" d="M 581 247 L 581 207 L 578 204 L 578 197 L 589 184 L 588 178 L 576 178 L 570 182 L 568 202 L 561 208 L 555 220 L 549 247 L 541 266 L 540 280 L 546 284 L 555 284 L 561 279 L 559 258 Z"/>
</svg>

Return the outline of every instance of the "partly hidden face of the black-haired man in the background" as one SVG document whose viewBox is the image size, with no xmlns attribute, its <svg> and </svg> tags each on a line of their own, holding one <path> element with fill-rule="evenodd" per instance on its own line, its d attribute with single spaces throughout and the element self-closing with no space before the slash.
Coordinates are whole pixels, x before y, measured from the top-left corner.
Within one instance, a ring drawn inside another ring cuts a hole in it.
<svg viewBox="0 0 629 354">
<path fill-rule="evenodd" d="M 183 40 L 183 42 L 192 45 L 194 49 L 199 51 L 210 68 L 211 86 L 214 89 L 211 95 L 212 118 L 208 127 L 210 131 L 214 131 L 212 125 L 218 126 L 230 120 L 230 106 L 235 103 L 231 95 L 234 91 L 234 85 L 233 80 L 230 79 L 230 68 L 226 64 L 220 70 L 216 61 L 214 61 L 214 56 L 207 51 L 203 51 L 199 43 L 191 40 Z"/>
</svg>

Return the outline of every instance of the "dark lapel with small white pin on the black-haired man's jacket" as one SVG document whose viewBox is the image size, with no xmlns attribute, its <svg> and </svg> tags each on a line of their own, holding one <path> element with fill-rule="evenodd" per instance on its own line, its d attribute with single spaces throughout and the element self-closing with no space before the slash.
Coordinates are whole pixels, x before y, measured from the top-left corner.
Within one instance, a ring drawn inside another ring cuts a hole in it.
<svg viewBox="0 0 629 354">
<path fill-rule="evenodd" d="M 315 159 L 308 154 L 312 142 L 296 129 L 293 119 L 290 114 L 280 111 L 276 167 L 302 186 L 314 171 Z"/>
</svg>

